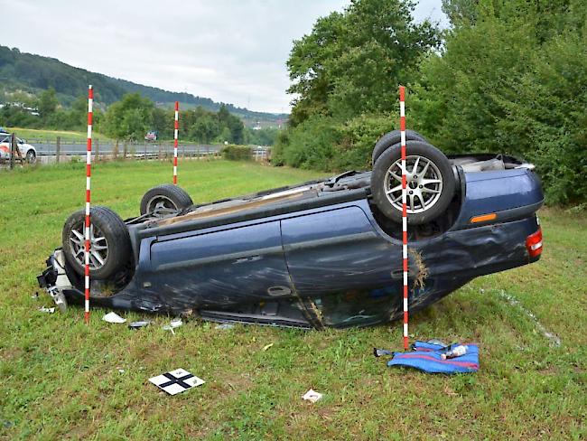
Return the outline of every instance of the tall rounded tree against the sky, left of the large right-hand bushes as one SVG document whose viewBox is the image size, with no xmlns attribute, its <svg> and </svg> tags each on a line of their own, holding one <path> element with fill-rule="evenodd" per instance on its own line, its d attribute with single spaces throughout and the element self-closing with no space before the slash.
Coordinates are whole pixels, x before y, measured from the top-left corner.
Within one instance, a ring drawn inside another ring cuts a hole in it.
<svg viewBox="0 0 587 441">
<path fill-rule="evenodd" d="M 352 0 L 293 42 L 293 125 L 312 115 L 349 119 L 395 106 L 397 85 L 412 80 L 422 55 L 440 43 L 432 23 L 414 22 L 413 10 L 407 0 Z"/>
</svg>

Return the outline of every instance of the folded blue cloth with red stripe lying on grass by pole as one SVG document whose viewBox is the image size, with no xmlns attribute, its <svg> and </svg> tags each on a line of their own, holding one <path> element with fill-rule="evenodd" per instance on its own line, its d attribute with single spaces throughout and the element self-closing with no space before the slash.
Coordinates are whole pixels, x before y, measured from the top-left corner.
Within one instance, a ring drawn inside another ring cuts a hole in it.
<svg viewBox="0 0 587 441">
<path fill-rule="evenodd" d="M 449 346 L 429 342 L 415 342 L 413 352 L 394 352 L 387 366 L 408 366 L 430 373 L 458 373 L 479 371 L 479 348 L 476 344 L 466 344 L 467 353 L 460 357 L 443 360 L 441 354 L 449 352 L 461 343 Z"/>
</svg>

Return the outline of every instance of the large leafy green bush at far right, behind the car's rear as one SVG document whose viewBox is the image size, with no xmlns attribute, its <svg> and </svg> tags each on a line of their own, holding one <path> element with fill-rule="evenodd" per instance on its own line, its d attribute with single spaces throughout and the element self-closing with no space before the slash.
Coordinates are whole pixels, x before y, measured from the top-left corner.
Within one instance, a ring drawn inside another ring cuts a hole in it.
<svg viewBox="0 0 587 441">
<path fill-rule="evenodd" d="M 445 151 L 533 162 L 550 202 L 587 201 L 577 179 L 587 173 L 584 1 L 476 3 L 475 20 L 459 22 L 423 63 L 413 120 Z"/>
</svg>

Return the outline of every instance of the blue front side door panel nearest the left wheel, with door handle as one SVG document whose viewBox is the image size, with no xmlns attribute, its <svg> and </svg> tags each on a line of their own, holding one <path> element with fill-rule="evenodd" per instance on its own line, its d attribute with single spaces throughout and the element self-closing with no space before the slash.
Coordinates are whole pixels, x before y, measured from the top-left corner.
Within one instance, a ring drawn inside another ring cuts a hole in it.
<svg viewBox="0 0 587 441">
<path fill-rule="evenodd" d="M 202 308 L 292 296 L 279 220 L 162 236 L 151 265 L 163 296 Z"/>
</svg>

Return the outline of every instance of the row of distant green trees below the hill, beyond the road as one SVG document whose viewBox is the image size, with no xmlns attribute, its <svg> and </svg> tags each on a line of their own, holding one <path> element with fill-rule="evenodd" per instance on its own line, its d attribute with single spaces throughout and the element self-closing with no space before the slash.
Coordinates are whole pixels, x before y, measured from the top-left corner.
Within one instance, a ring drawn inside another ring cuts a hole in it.
<svg viewBox="0 0 587 441">
<path fill-rule="evenodd" d="M 88 119 L 88 99 L 79 97 L 70 107 L 59 104 L 55 89 L 47 89 L 38 99 L 19 97 L 25 106 L 5 105 L 0 109 L 0 126 L 85 130 Z M 22 103 L 22 102 L 21 102 Z M 33 115 L 26 107 L 38 109 Z M 127 93 L 105 110 L 94 108 L 96 131 L 115 139 L 141 141 L 148 131 L 156 131 L 159 139 L 172 139 L 174 111 L 154 105 L 151 99 L 139 93 Z M 251 130 L 228 108 L 218 112 L 201 107 L 180 111 L 179 136 L 201 144 L 258 144 L 273 145 L 277 129 Z"/>
</svg>

